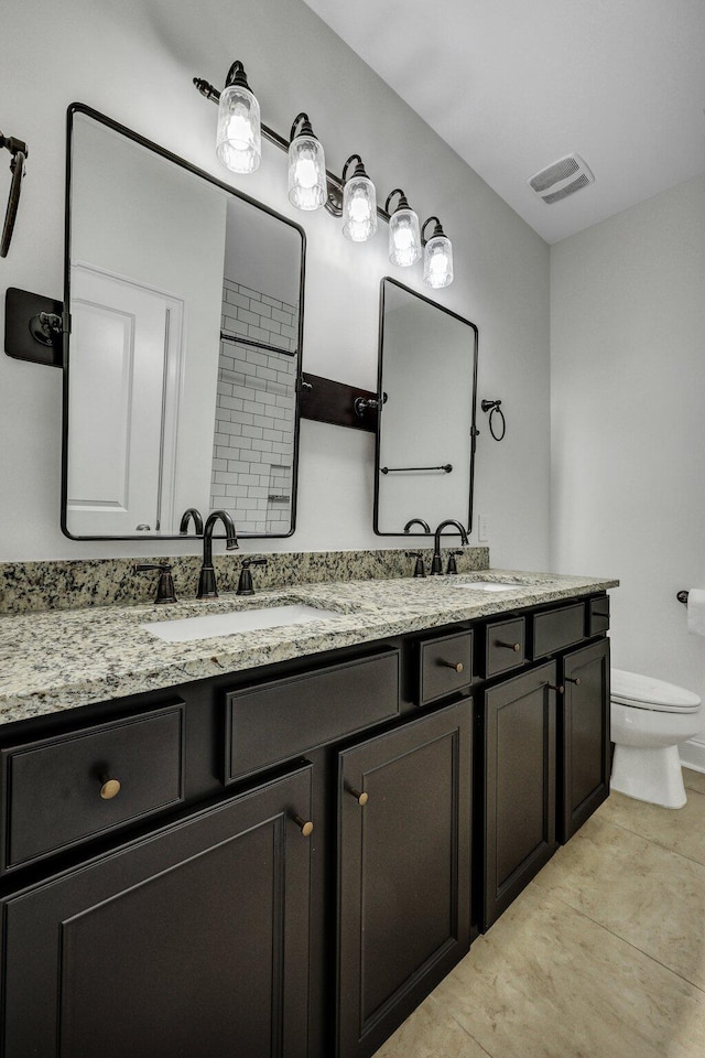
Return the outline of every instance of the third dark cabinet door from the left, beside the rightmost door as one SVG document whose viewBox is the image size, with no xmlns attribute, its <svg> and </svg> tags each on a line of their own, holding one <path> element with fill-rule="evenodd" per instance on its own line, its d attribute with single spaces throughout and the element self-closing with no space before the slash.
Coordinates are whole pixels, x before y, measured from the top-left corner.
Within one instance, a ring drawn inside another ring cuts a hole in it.
<svg viewBox="0 0 705 1058">
<path fill-rule="evenodd" d="M 485 692 L 484 929 L 556 848 L 555 677 L 551 661 Z"/>
</svg>

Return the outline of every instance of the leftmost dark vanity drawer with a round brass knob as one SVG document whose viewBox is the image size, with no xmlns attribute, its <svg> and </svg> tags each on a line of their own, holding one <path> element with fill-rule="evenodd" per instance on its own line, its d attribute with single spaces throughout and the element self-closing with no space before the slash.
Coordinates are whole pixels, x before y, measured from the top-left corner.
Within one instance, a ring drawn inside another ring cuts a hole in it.
<svg viewBox="0 0 705 1058">
<path fill-rule="evenodd" d="M 183 800 L 182 702 L 0 753 L 3 867 L 75 845 Z M 106 788 L 117 779 L 119 788 Z M 112 795 L 112 796 L 106 796 Z"/>
</svg>

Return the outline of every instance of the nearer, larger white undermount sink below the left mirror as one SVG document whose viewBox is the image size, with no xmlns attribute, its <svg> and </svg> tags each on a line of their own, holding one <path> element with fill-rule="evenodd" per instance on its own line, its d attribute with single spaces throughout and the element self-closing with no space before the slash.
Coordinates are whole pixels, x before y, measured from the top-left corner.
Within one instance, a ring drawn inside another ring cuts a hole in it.
<svg viewBox="0 0 705 1058">
<path fill-rule="evenodd" d="M 192 643 L 215 636 L 231 636 L 281 625 L 304 625 L 310 620 L 338 617 L 332 609 L 319 609 L 303 603 L 292 606 L 265 606 L 260 609 L 238 609 L 227 614 L 204 614 L 199 617 L 182 617 L 176 620 L 153 620 L 140 625 L 166 643 Z"/>
</svg>

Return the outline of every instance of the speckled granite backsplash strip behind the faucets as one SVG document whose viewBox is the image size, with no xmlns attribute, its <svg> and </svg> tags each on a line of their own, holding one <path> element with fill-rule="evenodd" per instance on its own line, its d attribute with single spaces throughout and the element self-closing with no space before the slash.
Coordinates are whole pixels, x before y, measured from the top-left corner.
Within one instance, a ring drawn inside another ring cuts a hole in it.
<svg viewBox="0 0 705 1058">
<path fill-rule="evenodd" d="M 452 539 L 452 538 L 451 538 Z M 200 547 L 193 555 L 160 555 L 155 559 L 83 559 L 58 562 L 0 562 L 0 614 L 39 613 L 44 609 L 83 609 L 85 606 L 110 606 L 119 603 L 148 603 L 154 598 L 155 573 L 134 573 L 135 562 L 169 562 L 173 566 L 178 598 L 196 594 L 200 571 Z M 453 547 L 443 550 L 444 554 Z M 252 571 L 258 589 L 316 584 L 328 581 L 380 580 L 409 576 L 413 559 L 404 550 L 423 551 L 426 569 L 433 548 L 426 537 L 410 535 L 403 550 L 379 551 L 296 551 L 273 554 L 216 554 L 214 565 L 221 592 L 234 592 L 238 584 L 242 559 L 265 558 L 265 566 Z M 465 548 L 458 558 L 458 570 L 486 570 L 489 548 Z"/>
</svg>

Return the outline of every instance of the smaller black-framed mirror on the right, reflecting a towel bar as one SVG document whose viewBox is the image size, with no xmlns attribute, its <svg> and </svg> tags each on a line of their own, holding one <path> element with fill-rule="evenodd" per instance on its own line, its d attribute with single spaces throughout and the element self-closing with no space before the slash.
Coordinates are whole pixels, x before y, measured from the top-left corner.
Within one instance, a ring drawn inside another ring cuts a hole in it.
<svg viewBox="0 0 705 1058">
<path fill-rule="evenodd" d="M 477 327 L 382 280 L 375 532 L 399 536 L 412 518 L 473 527 Z M 413 533 L 423 532 L 414 526 Z"/>
</svg>

